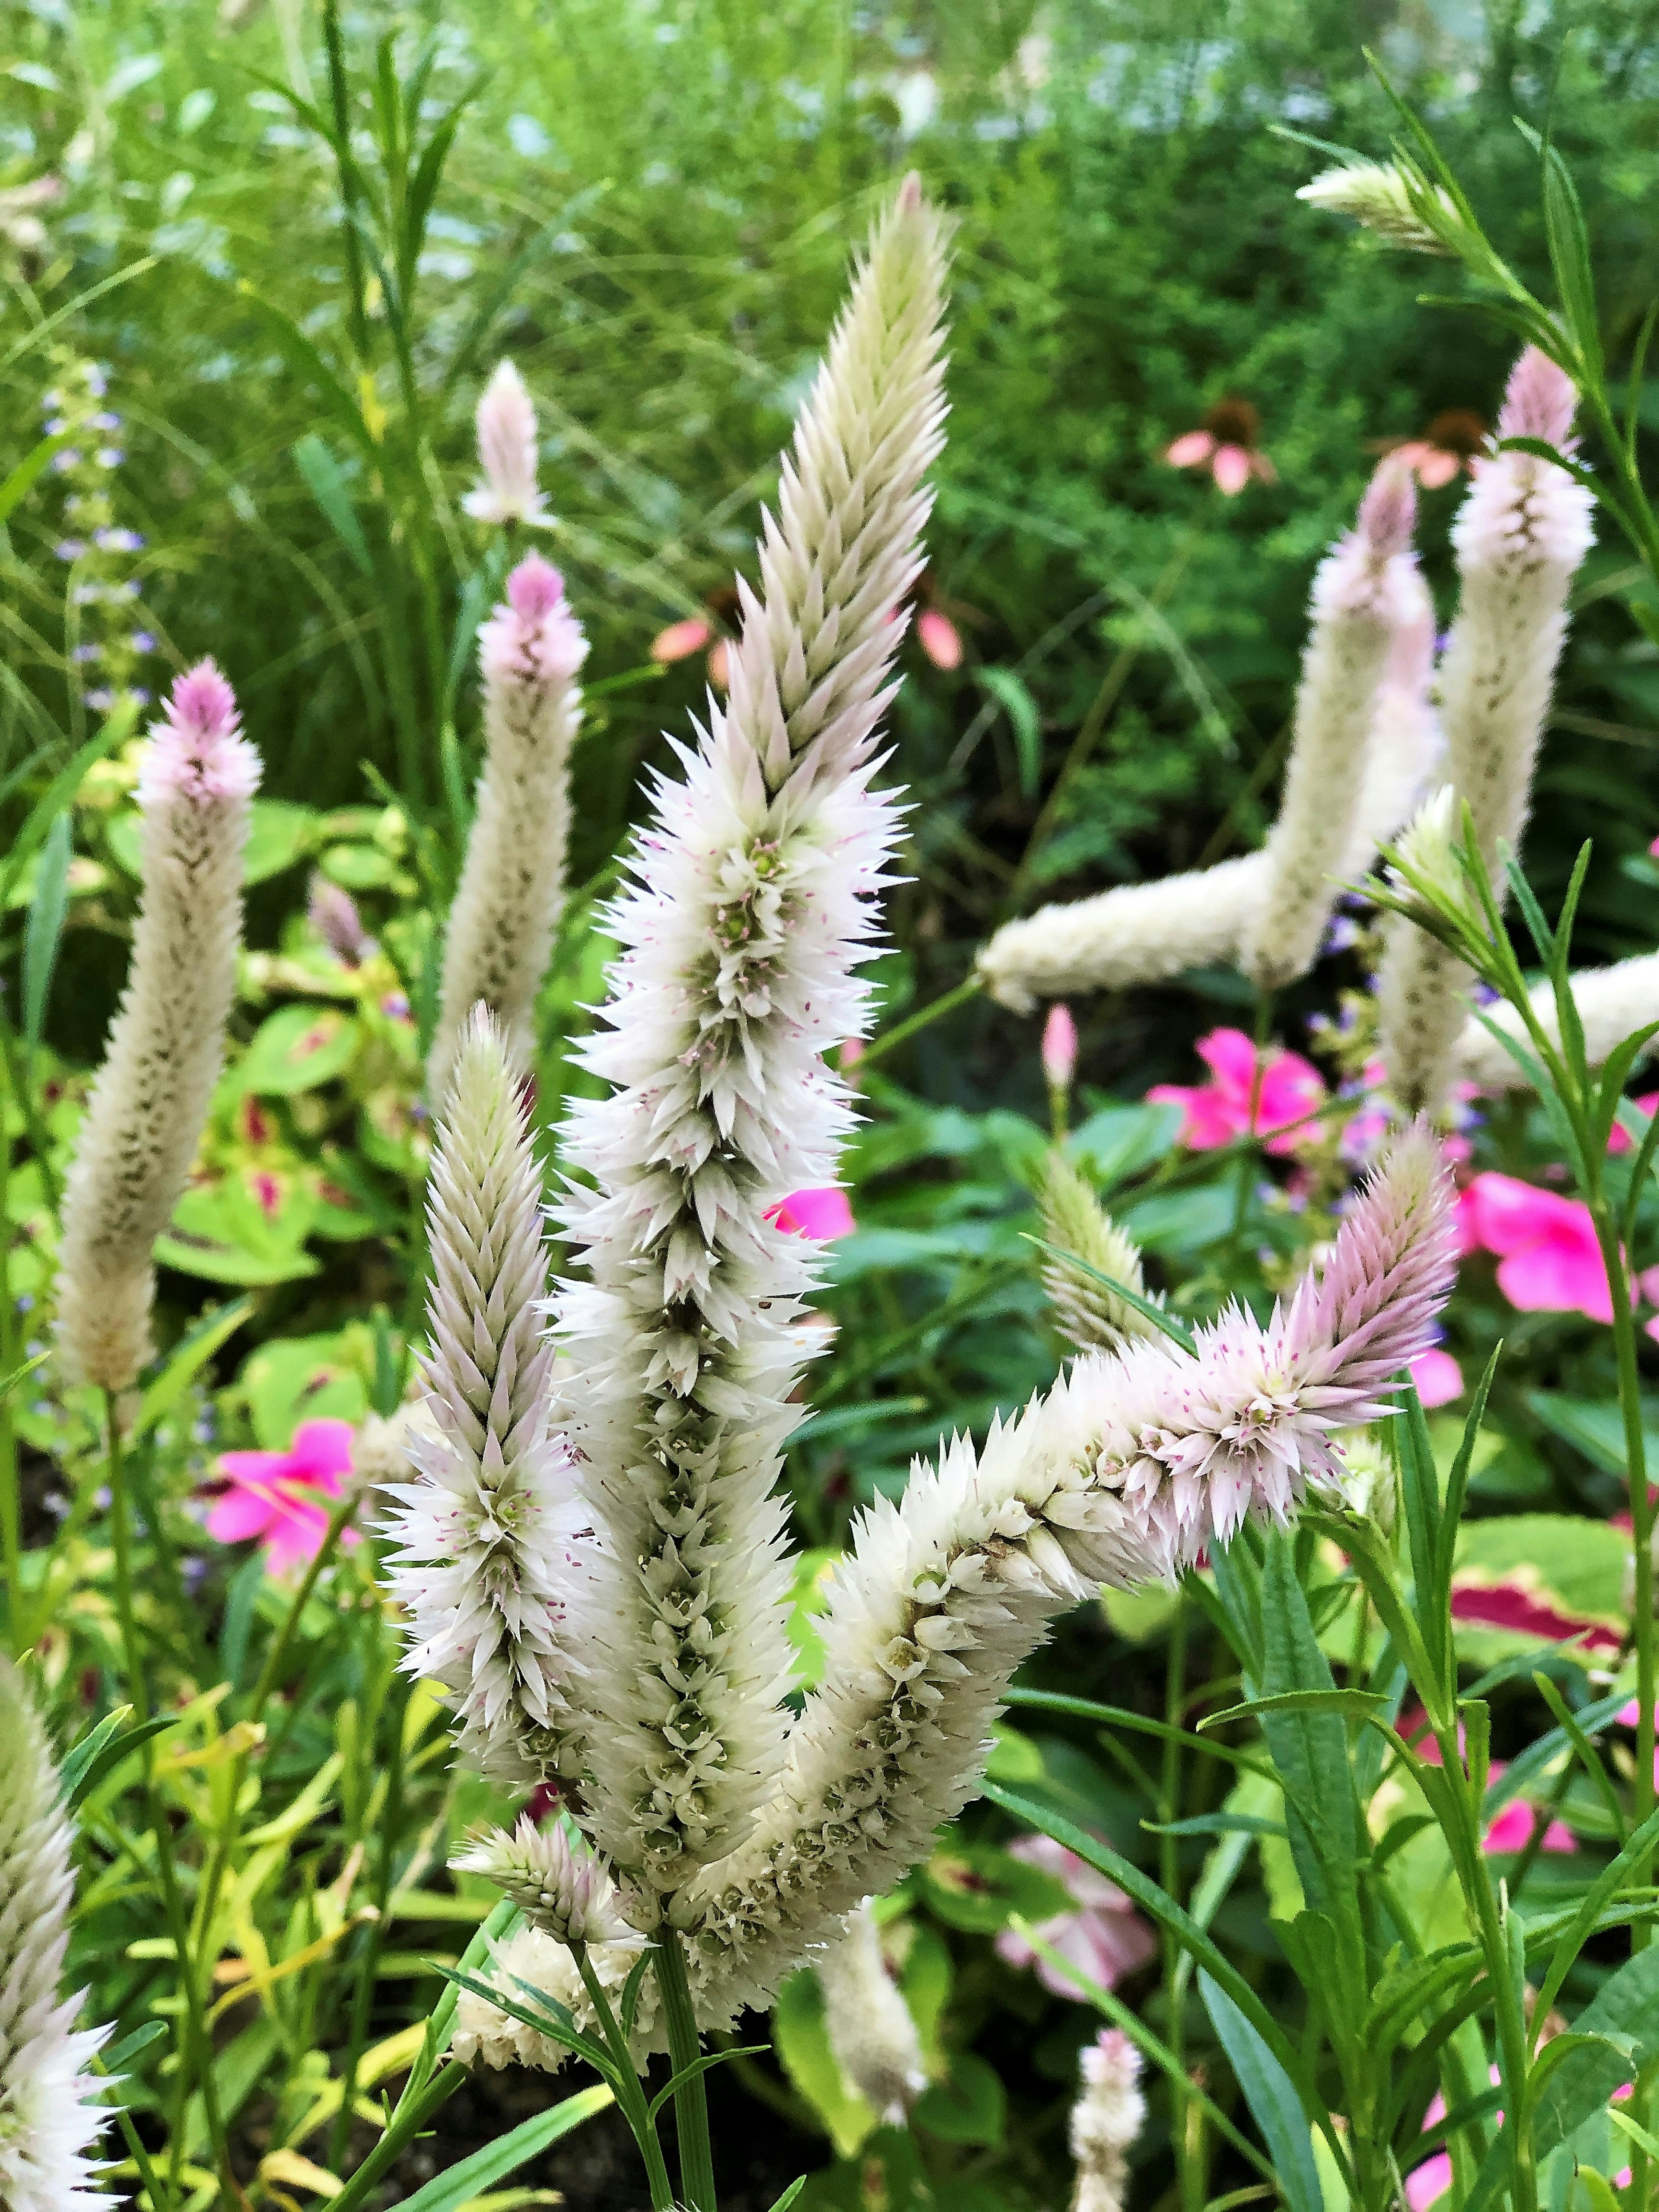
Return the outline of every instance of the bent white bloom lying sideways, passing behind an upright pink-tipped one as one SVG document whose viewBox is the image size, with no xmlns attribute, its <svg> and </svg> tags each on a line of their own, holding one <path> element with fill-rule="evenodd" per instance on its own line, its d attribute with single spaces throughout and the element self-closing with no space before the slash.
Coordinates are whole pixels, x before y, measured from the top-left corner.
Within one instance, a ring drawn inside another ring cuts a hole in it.
<svg viewBox="0 0 1659 2212">
<path fill-rule="evenodd" d="M 1411 573 L 1409 557 L 1396 555 L 1389 586 L 1398 586 L 1398 597 L 1389 588 L 1391 646 L 1374 681 L 1360 776 L 1354 779 L 1352 761 L 1347 770 L 1349 781 L 1358 783 L 1358 799 L 1343 814 L 1345 843 L 1332 845 L 1334 858 L 1327 863 L 1338 880 L 1365 874 L 1378 845 L 1411 814 L 1440 752 L 1440 730 L 1429 706 L 1433 606 Z M 1298 703 L 1298 728 L 1301 723 Z M 998 929 L 980 949 L 978 975 L 1000 1004 L 1013 1013 L 1031 1013 L 1037 1000 L 1073 991 L 1121 991 L 1164 982 L 1194 967 L 1234 967 L 1243 960 L 1243 947 L 1263 933 L 1263 909 L 1279 858 L 1283 845 L 1276 856 L 1270 843 L 1217 867 L 1188 869 L 1157 883 L 1121 883 L 1071 905 L 1040 907 Z M 1318 896 L 1334 896 L 1323 876 Z"/>
</svg>

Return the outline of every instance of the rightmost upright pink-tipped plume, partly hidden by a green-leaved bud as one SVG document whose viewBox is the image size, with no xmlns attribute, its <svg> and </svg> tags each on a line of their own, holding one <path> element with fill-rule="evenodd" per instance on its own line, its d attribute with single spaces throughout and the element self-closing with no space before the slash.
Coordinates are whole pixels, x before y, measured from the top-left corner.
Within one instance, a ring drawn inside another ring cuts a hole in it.
<svg viewBox="0 0 1659 2212">
<path fill-rule="evenodd" d="M 1515 363 L 1500 438 L 1544 438 L 1571 451 L 1577 394 L 1537 347 Z M 1447 768 L 1469 801 L 1486 867 L 1520 849 L 1533 761 L 1566 637 L 1566 593 L 1590 549 L 1590 493 L 1537 453 L 1495 453 L 1451 533 L 1462 597 L 1440 666 Z M 1502 889 L 1502 885 L 1500 885 Z M 1462 1029 L 1469 971 L 1411 922 L 1394 920 L 1378 987 L 1383 1057 L 1396 1095 L 1438 1108 Z"/>
</svg>

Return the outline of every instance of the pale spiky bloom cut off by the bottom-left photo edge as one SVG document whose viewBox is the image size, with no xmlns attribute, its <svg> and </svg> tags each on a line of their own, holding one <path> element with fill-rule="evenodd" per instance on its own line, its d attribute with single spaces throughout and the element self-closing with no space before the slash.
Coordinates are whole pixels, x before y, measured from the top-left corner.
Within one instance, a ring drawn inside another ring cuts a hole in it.
<svg viewBox="0 0 1659 2212">
<path fill-rule="evenodd" d="M 0 1657 L 0 2205 L 73 2212 L 108 2203 L 86 2157 L 108 2119 L 86 2062 L 108 2028 L 75 2028 L 60 2002 L 75 1878 L 46 1730 Z"/>
</svg>

